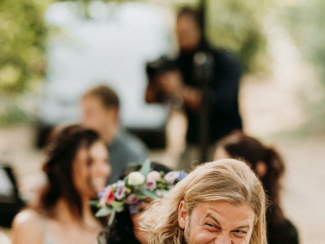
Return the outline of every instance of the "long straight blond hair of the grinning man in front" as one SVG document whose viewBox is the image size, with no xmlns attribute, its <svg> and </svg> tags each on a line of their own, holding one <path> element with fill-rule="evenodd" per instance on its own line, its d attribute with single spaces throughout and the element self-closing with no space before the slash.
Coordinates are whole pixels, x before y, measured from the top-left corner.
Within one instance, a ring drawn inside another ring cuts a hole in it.
<svg viewBox="0 0 325 244">
<path fill-rule="evenodd" d="M 190 172 L 164 198 L 155 200 L 142 215 L 143 230 L 151 244 L 182 244 L 178 206 L 185 202 L 191 215 L 201 202 L 247 204 L 255 212 L 250 244 L 266 244 L 266 194 L 255 173 L 242 161 L 223 159 L 202 164 Z"/>
</svg>

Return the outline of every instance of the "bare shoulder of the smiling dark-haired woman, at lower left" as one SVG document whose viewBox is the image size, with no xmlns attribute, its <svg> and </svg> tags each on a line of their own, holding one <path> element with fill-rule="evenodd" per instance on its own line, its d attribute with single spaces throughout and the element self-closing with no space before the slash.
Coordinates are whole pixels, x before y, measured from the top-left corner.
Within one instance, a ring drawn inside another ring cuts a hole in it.
<svg viewBox="0 0 325 244">
<path fill-rule="evenodd" d="M 19 212 L 12 224 L 13 244 L 43 242 L 43 220 L 38 212 L 26 209 Z"/>
</svg>

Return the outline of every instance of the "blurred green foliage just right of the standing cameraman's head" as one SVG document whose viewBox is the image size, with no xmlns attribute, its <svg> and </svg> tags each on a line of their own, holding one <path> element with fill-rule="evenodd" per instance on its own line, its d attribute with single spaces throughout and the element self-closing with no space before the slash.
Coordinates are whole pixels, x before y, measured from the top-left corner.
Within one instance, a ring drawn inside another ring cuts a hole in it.
<svg viewBox="0 0 325 244">
<path fill-rule="evenodd" d="M 267 70 L 263 19 L 269 6 L 265 0 L 208 1 L 209 39 L 216 46 L 237 52 L 246 72 Z"/>
</svg>

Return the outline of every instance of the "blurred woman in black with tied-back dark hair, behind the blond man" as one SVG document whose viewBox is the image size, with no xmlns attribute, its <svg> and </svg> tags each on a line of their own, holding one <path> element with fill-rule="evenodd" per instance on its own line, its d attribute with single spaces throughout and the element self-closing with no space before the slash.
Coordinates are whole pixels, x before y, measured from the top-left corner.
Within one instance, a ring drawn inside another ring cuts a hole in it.
<svg viewBox="0 0 325 244">
<path fill-rule="evenodd" d="M 280 180 L 284 163 L 277 151 L 241 131 L 235 131 L 217 143 L 214 159 L 224 158 L 244 159 L 261 179 L 271 202 L 267 210 L 268 243 L 299 243 L 296 228 L 285 219 L 281 209 Z"/>
</svg>

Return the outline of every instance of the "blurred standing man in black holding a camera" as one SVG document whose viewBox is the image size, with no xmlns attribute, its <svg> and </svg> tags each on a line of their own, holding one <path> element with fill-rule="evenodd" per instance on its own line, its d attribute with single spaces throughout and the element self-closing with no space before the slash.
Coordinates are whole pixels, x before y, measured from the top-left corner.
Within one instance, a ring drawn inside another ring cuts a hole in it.
<svg viewBox="0 0 325 244">
<path fill-rule="evenodd" d="M 238 108 L 241 70 L 236 59 L 228 52 L 215 49 L 205 41 L 196 11 L 184 8 L 179 12 L 176 34 L 180 50 L 176 60 L 179 72 L 170 66 L 169 71 L 159 72 L 158 76 L 151 79 L 154 81 L 149 82 L 146 101 L 158 101 L 161 97 L 166 100 L 168 97 L 174 104 L 175 101 L 176 104 L 183 104 L 188 120 L 188 147 L 182 162 L 188 164 L 200 158 L 197 145 L 202 144 L 202 128 L 208 128 L 205 132 L 207 144 L 213 144 L 233 130 L 242 129 Z M 197 67 L 194 65 L 195 56 L 200 52 L 208 54 L 212 59 L 211 78 L 205 84 L 198 79 Z M 202 109 L 207 111 L 206 125 L 200 121 Z M 211 148 L 207 160 L 212 159 L 213 151 Z M 188 165 L 180 165 L 180 168 L 186 167 Z"/>
</svg>

